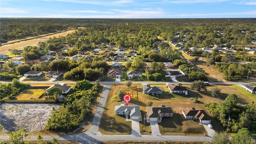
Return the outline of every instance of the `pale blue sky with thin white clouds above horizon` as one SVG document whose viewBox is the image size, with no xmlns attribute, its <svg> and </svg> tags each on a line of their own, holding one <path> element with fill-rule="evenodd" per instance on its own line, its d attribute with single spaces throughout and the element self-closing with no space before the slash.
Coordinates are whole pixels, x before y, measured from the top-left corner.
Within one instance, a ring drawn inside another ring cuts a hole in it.
<svg viewBox="0 0 256 144">
<path fill-rule="evenodd" d="M 256 0 L 0 0 L 12 18 L 256 18 Z"/>
</svg>

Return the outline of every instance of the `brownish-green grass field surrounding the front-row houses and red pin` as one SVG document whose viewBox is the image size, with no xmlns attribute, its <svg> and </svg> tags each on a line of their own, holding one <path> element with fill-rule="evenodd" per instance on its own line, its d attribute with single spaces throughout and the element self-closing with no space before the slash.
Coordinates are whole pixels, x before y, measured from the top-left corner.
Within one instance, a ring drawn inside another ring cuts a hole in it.
<svg viewBox="0 0 256 144">
<path fill-rule="evenodd" d="M 131 134 L 131 122 L 125 121 L 124 116 L 118 116 L 114 114 L 114 108 L 116 105 L 120 105 L 124 102 L 112 102 L 115 100 L 116 92 L 118 90 L 124 90 L 124 92 L 131 94 L 132 101 L 129 105 L 139 105 L 140 111 L 142 114 L 142 119 L 146 114 L 146 102 L 152 101 L 153 106 L 170 106 L 174 111 L 174 116 L 170 118 L 164 117 L 161 123 L 159 124 L 160 133 L 162 135 L 194 135 L 194 136 L 203 136 L 206 133 L 206 130 L 202 125 L 199 125 L 197 122 L 191 120 L 186 120 L 182 115 L 182 109 L 185 108 L 196 108 L 203 109 L 207 112 L 206 108 L 203 106 L 203 103 L 208 102 L 221 102 L 225 100 L 228 94 L 236 94 L 238 96 L 238 103 L 244 105 L 252 101 L 256 102 L 254 94 L 247 94 L 243 88 L 240 88 L 236 85 L 208 85 L 206 92 L 194 92 L 190 90 L 189 85 L 183 85 L 188 89 L 188 96 L 184 94 L 171 94 L 168 92 L 168 87 L 165 84 L 154 84 L 152 86 L 159 86 L 163 90 L 163 94 L 158 95 L 157 97 L 148 96 L 142 94 L 142 84 L 132 84 L 130 88 L 126 84 L 112 85 L 109 92 L 108 100 L 106 102 L 104 114 L 102 121 L 100 123 L 100 132 L 102 134 Z M 220 88 L 221 94 L 214 98 L 210 95 L 212 88 Z M 190 100 L 191 97 L 198 98 L 198 103 L 194 103 Z M 150 99 L 148 99 L 150 98 Z M 207 112 L 208 113 L 208 112 Z M 208 113 L 209 114 L 209 113 Z M 210 114 L 209 114 L 210 115 Z M 215 120 L 212 124 L 214 130 L 221 131 L 222 128 L 218 126 Z M 106 127 L 107 125 L 107 127 Z M 145 123 L 145 132 L 143 132 L 143 120 L 140 121 L 140 133 L 143 135 L 151 134 L 150 124 Z"/>
</svg>

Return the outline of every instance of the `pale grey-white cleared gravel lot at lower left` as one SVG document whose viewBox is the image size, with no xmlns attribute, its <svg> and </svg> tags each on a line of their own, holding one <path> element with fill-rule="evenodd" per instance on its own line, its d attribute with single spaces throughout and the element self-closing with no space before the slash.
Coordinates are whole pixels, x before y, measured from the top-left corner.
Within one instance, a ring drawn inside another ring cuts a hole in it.
<svg viewBox="0 0 256 144">
<path fill-rule="evenodd" d="M 59 109 L 61 103 L 2 103 L 0 104 L 0 124 L 6 134 L 26 128 L 36 132 L 44 128 L 50 117 L 52 107 Z M 41 123 L 41 125 L 40 125 Z"/>
</svg>

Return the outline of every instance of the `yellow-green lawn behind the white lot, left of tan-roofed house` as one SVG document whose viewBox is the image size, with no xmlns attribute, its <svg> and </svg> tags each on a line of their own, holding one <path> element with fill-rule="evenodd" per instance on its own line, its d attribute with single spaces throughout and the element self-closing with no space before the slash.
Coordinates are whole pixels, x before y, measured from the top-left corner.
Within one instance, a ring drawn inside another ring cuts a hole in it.
<svg viewBox="0 0 256 144">
<path fill-rule="evenodd" d="M 30 98 L 38 100 L 44 92 L 45 89 L 24 89 L 16 98 L 17 100 L 31 100 Z"/>
</svg>

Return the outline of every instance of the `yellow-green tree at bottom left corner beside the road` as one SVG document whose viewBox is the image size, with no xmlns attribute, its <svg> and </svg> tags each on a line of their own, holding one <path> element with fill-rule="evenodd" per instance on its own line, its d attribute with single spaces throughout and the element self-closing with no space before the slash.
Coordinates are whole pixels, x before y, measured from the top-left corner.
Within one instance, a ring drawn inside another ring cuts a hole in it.
<svg viewBox="0 0 256 144">
<path fill-rule="evenodd" d="M 23 141 L 23 138 L 29 138 L 28 130 L 26 128 L 22 128 L 16 132 L 10 132 L 9 138 L 13 141 L 13 144 L 19 144 L 20 141 Z"/>
</svg>

